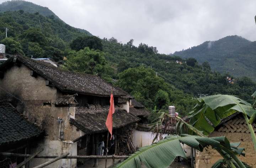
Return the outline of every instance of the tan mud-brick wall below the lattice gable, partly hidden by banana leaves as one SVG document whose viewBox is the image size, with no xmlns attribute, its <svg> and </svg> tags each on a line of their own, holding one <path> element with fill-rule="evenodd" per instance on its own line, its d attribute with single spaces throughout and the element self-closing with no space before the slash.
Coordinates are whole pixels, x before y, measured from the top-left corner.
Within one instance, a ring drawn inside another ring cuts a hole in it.
<svg viewBox="0 0 256 168">
<path fill-rule="evenodd" d="M 225 136 L 230 143 L 241 142 L 239 147 L 245 148 L 245 157 L 239 156 L 238 158 L 253 168 L 256 168 L 256 153 L 254 150 L 254 144 L 252 143 L 252 138 L 250 133 L 231 133 L 231 132 L 212 132 L 209 137 L 223 137 Z M 196 168 L 210 168 L 215 162 L 222 159 L 222 156 L 211 147 L 204 149 L 203 152 L 197 152 L 196 154 Z"/>
</svg>

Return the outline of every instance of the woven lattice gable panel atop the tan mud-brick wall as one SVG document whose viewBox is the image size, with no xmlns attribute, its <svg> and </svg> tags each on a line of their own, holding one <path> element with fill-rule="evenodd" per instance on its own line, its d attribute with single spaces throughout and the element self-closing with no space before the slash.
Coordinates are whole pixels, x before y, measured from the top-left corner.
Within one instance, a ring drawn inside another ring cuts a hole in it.
<svg viewBox="0 0 256 168">
<path fill-rule="evenodd" d="M 256 132 L 256 124 L 251 124 L 254 132 Z M 232 118 L 231 120 L 227 121 L 225 126 L 222 126 L 218 129 L 218 132 L 246 132 L 247 134 L 250 133 L 250 130 L 247 126 L 247 123 L 244 118 L 238 116 L 236 118 Z"/>
</svg>

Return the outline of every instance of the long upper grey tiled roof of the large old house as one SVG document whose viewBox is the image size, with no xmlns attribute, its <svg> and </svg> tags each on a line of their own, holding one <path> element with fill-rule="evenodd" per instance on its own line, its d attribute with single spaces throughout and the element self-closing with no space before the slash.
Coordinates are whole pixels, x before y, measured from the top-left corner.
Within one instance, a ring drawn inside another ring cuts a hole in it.
<svg viewBox="0 0 256 168">
<path fill-rule="evenodd" d="M 28 68 L 45 79 L 49 80 L 50 83 L 62 91 L 110 96 L 111 89 L 113 87 L 113 96 L 126 96 L 128 94 L 122 89 L 114 87 L 96 75 L 62 70 L 54 66 L 49 66 L 44 62 L 35 61 L 21 55 L 10 57 L 6 62 L 0 65 L 0 69 L 3 71 L 5 66 L 12 64 L 15 59 L 28 66 Z"/>
</svg>

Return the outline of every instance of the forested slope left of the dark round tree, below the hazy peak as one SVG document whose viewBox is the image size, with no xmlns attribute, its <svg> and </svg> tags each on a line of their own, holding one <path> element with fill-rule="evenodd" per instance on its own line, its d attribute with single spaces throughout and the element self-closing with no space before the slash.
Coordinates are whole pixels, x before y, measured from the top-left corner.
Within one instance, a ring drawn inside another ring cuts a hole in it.
<svg viewBox="0 0 256 168">
<path fill-rule="evenodd" d="M 23 10 L 0 13 L 0 27 L 9 29 L 8 38 L 5 38 L 5 29 L 0 29 L 0 41 L 6 45 L 6 52 L 50 57 L 56 62 L 63 61 L 64 51 L 72 39 L 88 35 L 52 16 Z"/>
</svg>

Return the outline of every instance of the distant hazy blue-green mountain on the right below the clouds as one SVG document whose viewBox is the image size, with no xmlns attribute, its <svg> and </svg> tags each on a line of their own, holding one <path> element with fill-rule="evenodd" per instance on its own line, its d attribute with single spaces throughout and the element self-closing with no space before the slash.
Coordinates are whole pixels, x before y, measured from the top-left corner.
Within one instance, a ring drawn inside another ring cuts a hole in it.
<svg viewBox="0 0 256 168">
<path fill-rule="evenodd" d="M 254 63 L 256 42 L 251 42 L 241 36 L 227 36 L 217 41 L 206 41 L 201 45 L 177 51 L 176 56 L 193 57 L 202 64 L 210 63 L 212 70 L 223 73 L 229 71 L 235 77 L 248 76 L 256 81 Z"/>
</svg>

